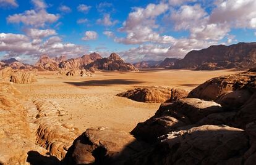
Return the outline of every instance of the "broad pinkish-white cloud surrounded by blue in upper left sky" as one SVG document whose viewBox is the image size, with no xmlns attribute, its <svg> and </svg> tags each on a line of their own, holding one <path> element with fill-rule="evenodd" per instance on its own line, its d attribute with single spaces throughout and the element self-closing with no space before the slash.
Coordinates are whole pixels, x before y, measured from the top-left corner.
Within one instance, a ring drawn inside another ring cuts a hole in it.
<svg viewBox="0 0 256 165">
<path fill-rule="evenodd" d="M 59 15 L 49 14 L 46 10 L 41 9 L 38 12 L 35 10 L 26 10 L 22 14 L 9 15 L 7 17 L 7 22 L 44 27 L 46 23 L 54 23 L 58 19 Z"/>
</svg>

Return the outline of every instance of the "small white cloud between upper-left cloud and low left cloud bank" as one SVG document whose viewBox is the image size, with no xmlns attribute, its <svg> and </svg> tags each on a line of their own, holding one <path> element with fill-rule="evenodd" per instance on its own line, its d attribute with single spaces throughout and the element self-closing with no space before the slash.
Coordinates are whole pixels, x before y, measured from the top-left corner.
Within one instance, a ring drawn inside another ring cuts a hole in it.
<svg viewBox="0 0 256 165">
<path fill-rule="evenodd" d="M 46 29 L 46 30 L 39 30 L 39 29 L 25 29 L 24 30 L 27 36 L 30 36 L 33 39 L 40 39 L 40 38 L 45 38 L 48 36 L 53 36 L 56 35 L 56 31 L 52 29 Z"/>
</svg>

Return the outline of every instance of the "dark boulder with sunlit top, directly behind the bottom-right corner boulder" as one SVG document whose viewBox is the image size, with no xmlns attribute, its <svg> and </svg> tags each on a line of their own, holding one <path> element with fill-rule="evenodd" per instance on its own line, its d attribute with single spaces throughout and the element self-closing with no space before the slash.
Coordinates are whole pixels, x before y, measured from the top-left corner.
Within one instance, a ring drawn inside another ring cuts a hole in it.
<svg viewBox="0 0 256 165">
<path fill-rule="evenodd" d="M 155 116 L 139 123 L 131 134 L 147 142 L 155 142 L 161 135 L 197 126 L 197 122 L 212 113 L 223 112 L 215 102 L 200 99 L 180 99 L 174 103 L 163 103 Z"/>
</svg>

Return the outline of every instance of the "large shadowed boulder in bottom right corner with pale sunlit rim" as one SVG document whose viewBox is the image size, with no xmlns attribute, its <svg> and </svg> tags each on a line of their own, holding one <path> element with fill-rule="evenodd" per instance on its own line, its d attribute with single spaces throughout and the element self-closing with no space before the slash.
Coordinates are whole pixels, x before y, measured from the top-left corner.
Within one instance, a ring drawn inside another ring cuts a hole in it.
<svg viewBox="0 0 256 165">
<path fill-rule="evenodd" d="M 254 164 L 255 139 L 242 129 L 204 125 L 171 132 L 128 164 Z"/>
</svg>

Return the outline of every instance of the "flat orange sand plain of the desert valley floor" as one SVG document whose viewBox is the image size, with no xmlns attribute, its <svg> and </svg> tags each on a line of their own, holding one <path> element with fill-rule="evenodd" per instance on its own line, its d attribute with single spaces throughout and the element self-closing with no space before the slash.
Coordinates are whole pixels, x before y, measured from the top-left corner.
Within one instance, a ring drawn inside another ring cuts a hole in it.
<svg viewBox="0 0 256 165">
<path fill-rule="evenodd" d="M 80 132 L 88 127 L 108 126 L 130 132 L 153 116 L 160 103 L 142 103 L 117 97 L 134 87 L 168 86 L 191 90 L 210 78 L 237 73 L 232 70 L 143 70 L 139 73 L 97 71 L 93 78 L 38 73 L 34 84 L 15 84 L 28 100 L 54 100 L 66 111 L 61 123 L 72 123 Z"/>
</svg>

